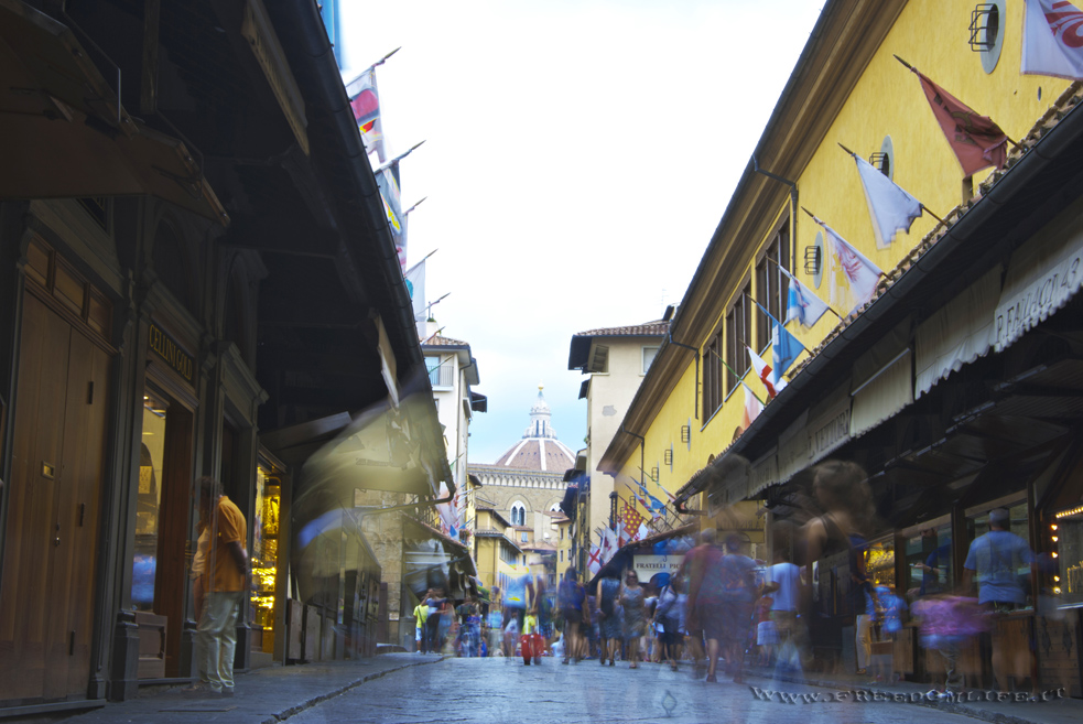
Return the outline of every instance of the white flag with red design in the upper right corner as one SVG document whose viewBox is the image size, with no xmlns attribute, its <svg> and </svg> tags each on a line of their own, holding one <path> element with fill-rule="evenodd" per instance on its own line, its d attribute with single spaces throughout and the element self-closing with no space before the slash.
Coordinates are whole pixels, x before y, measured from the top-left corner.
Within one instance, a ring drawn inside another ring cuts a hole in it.
<svg viewBox="0 0 1083 724">
<path fill-rule="evenodd" d="M 1022 73 L 1083 80 L 1083 12 L 1068 0 L 1027 0 Z"/>
</svg>

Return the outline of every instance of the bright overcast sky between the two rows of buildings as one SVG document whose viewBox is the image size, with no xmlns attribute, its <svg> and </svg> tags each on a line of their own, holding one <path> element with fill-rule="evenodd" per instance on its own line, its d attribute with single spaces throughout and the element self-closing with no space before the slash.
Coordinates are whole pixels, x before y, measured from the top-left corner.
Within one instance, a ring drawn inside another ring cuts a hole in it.
<svg viewBox="0 0 1083 724">
<path fill-rule="evenodd" d="M 572 335 L 680 302 L 820 13 L 819 0 L 342 0 L 346 82 L 377 72 L 402 161 L 408 263 L 433 249 L 443 334 L 487 413 L 469 460 L 527 426 L 538 385 L 584 446 Z M 373 156 L 375 161 L 375 156 Z"/>
</svg>

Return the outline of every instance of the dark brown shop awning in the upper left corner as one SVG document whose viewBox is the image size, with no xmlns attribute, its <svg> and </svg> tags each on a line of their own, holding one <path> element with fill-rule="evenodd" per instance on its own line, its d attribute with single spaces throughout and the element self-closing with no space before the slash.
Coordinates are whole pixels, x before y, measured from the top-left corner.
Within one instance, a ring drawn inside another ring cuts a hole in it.
<svg viewBox="0 0 1083 724">
<path fill-rule="evenodd" d="M 0 0 L 0 197 L 147 194 L 229 223 L 184 143 L 129 116 L 72 31 L 21 0 Z"/>
</svg>

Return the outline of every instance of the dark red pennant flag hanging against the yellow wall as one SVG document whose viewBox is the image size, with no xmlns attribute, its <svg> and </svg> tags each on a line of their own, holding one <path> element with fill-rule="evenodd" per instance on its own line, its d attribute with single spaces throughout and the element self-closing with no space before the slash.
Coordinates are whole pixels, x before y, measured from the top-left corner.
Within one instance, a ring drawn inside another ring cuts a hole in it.
<svg viewBox="0 0 1083 724">
<path fill-rule="evenodd" d="M 917 68 L 910 69 L 920 78 L 921 89 L 959 164 L 963 166 L 963 174 L 968 176 L 986 166 L 1003 169 L 1008 158 L 1008 137 L 1000 127 L 988 116 L 976 114 Z"/>
</svg>

